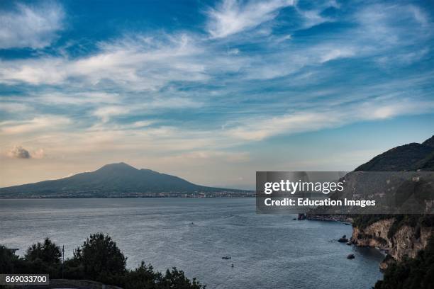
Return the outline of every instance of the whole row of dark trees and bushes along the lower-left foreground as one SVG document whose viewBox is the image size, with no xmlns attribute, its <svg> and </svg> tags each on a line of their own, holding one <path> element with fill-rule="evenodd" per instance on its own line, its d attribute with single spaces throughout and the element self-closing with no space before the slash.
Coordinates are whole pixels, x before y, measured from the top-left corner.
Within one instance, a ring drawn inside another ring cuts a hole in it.
<svg viewBox="0 0 434 289">
<path fill-rule="evenodd" d="M 0 245 L 1 273 L 49 273 L 50 278 L 62 277 L 60 248 L 50 239 L 30 246 L 24 258 L 19 258 Z M 126 257 L 109 235 L 91 234 L 74 256 L 64 264 L 67 279 L 95 280 L 125 289 L 204 289 L 195 278 L 189 280 L 177 268 L 163 275 L 144 262 L 138 268 L 126 268 Z"/>
</svg>

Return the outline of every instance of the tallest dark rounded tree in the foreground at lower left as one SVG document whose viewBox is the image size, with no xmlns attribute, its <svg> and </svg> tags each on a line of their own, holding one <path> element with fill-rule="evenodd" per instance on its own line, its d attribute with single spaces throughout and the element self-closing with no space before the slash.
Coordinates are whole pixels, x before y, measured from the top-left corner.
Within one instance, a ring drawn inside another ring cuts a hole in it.
<svg viewBox="0 0 434 289">
<path fill-rule="evenodd" d="M 107 281 L 126 273 L 126 257 L 109 235 L 91 234 L 74 251 L 74 259 L 91 280 Z"/>
</svg>

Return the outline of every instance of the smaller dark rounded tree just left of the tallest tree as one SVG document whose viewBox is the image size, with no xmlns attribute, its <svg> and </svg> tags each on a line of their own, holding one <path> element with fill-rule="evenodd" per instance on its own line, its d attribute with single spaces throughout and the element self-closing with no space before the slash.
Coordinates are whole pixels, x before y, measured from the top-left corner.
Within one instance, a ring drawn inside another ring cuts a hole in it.
<svg viewBox="0 0 434 289">
<path fill-rule="evenodd" d="M 38 242 L 28 247 L 25 258 L 27 261 L 40 259 L 47 265 L 55 265 L 60 263 L 61 256 L 60 247 L 47 237 L 43 243 Z"/>
</svg>

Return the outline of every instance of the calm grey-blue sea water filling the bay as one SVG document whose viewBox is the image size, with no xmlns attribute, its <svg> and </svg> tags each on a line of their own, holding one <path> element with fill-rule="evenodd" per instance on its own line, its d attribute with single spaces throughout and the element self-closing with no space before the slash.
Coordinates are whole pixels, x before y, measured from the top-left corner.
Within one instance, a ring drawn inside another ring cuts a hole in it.
<svg viewBox="0 0 434 289">
<path fill-rule="evenodd" d="M 293 217 L 257 215 L 253 198 L 0 200 L 0 244 L 23 254 L 48 236 L 72 256 L 89 234 L 109 233 L 128 266 L 177 266 L 208 288 L 371 288 L 382 278 L 382 254 L 336 242 L 351 226 Z"/>
</svg>

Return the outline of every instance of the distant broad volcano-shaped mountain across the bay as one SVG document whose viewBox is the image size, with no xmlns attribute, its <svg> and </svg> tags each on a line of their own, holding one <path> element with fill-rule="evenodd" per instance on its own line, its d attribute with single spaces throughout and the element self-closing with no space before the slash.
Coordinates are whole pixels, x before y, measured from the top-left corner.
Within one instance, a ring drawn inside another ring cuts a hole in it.
<svg viewBox="0 0 434 289">
<path fill-rule="evenodd" d="M 0 198 L 116 198 L 193 193 L 221 195 L 243 191 L 199 186 L 177 176 L 135 169 L 122 162 L 64 179 L 0 188 Z"/>
</svg>

